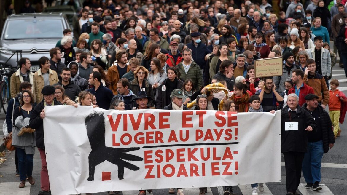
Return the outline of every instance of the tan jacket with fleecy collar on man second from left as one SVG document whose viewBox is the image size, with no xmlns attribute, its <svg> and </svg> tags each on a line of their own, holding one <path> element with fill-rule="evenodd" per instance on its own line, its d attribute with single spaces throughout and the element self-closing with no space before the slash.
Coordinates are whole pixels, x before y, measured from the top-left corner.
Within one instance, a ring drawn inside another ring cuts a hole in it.
<svg viewBox="0 0 347 195">
<path fill-rule="evenodd" d="M 49 73 L 49 85 L 54 85 L 58 83 L 59 80 L 58 80 L 57 72 L 49 69 L 48 73 Z M 34 73 L 34 79 L 36 81 L 36 87 L 35 87 L 36 103 L 40 103 L 43 99 L 41 90 L 44 87 L 44 80 L 43 80 L 41 68 L 37 70 L 36 73 Z"/>
</svg>

